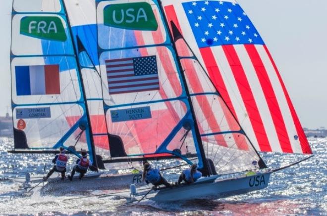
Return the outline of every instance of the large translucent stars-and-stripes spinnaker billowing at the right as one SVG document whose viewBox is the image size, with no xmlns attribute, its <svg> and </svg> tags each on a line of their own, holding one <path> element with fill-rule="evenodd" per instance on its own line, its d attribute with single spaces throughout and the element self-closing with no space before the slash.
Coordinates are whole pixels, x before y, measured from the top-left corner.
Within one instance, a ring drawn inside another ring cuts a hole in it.
<svg viewBox="0 0 327 216">
<path fill-rule="evenodd" d="M 163 6 L 258 150 L 312 153 L 270 52 L 234 0 Z"/>
</svg>

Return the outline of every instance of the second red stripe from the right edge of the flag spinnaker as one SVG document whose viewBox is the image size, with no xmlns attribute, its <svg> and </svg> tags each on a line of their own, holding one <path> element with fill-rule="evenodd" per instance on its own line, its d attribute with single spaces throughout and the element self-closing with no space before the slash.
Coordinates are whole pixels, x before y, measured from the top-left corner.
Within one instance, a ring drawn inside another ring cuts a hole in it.
<svg viewBox="0 0 327 216">
<path fill-rule="evenodd" d="M 290 140 L 288 138 L 286 126 L 283 116 L 281 114 L 279 104 L 272 88 L 272 83 L 267 74 L 266 68 L 261 60 L 261 57 L 253 44 L 244 45 L 248 55 L 251 59 L 252 65 L 256 71 L 260 85 L 264 92 L 267 105 L 272 116 L 273 125 L 275 127 L 280 147 L 283 152 L 293 153 Z"/>
</svg>

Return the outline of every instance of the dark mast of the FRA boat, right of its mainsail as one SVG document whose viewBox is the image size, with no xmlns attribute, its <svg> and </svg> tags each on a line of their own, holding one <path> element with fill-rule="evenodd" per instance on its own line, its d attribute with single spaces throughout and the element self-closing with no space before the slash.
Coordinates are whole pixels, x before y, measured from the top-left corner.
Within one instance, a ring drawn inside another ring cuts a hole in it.
<svg viewBox="0 0 327 216">
<path fill-rule="evenodd" d="M 64 2 L 64 0 L 62 0 L 61 2 L 62 2 L 63 9 L 64 9 L 65 14 L 66 14 L 66 19 L 67 19 L 67 23 L 68 23 L 67 28 L 69 29 L 70 38 L 71 38 L 71 41 L 73 43 L 76 64 L 77 64 L 77 67 L 78 67 L 78 75 L 79 75 L 80 81 L 82 83 L 82 85 L 81 85 L 82 89 L 81 90 L 82 90 L 82 94 L 83 94 L 83 98 L 84 98 L 84 105 L 85 105 L 85 109 L 86 109 L 86 117 L 87 117 L 87 122 L 88 122 L 88 126 L 89 126 L 89 136 L 90 136 L 90 140 L 91 140 L 93 163 L 94 163 L 95 167 L 98 167 L 97 155 L 96 155 L 96 152 L 95 152 L 94 140 L 93 140 L 93 134 L 92 134 L 92 126 L 91 126 L 91 121 L 90 121 L 89 108 L 88 108 L 87 98 L 86 98 L 86 94 L 85 94 L 85 86 L 84 86 L 84 82 L 83 82 L 81 66 L 80 66 L 80 63 L 79 63 L 79 56 L 78 56 L 79 53 L 78 53 L 78 50 L 77 50 L 76 45 L 75 45 L 75 40 L 73 39 L 73 32 L 71 31 L 69 16 L 68 16 L 68 13 L 67 13 L 67 8 L 66 8 L 66 5 L 65 5 L 65 2 Z"/>
</svg>

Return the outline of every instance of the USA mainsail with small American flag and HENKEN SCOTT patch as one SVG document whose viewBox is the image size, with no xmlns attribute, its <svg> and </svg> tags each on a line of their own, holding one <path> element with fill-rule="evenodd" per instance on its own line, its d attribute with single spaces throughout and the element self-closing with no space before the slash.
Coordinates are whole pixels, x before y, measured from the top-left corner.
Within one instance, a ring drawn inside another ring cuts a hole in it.
<svg viewBox="0 0 327 216">
<path fill-rule="evenodd" d="M 111 157 L 177 155 L 188 160 L 186 155 L 199 153 L 158 2 L 99 1 L 97 29 Z"/>
</svg>

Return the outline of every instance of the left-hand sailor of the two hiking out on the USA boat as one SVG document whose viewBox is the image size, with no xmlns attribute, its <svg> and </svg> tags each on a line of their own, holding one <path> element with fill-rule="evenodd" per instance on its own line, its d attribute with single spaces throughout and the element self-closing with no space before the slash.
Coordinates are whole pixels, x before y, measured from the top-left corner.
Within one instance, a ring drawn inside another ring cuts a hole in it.
<svg viewBox="0 0 327 216">
<path fill-rule="evenodd" d="M 167 180 L 161 175 L 158 169 L 154 169 L 148 162 L 143 165 L 142 181 L 152 183 L 155 187 L 164 184 L 166 187 L 171 187 Z"/>
</svg>

